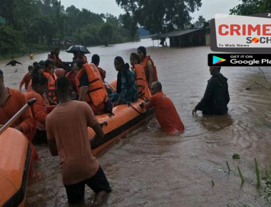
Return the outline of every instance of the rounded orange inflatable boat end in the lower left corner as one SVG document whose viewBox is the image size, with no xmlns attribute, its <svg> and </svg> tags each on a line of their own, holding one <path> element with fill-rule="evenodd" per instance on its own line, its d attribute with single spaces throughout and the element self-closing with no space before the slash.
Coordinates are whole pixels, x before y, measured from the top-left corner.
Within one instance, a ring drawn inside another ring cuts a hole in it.
<svg viewBox="0 0 271 207">
<path fill-rule="evenodd" d="M 23 133 L 7 128 L 0 135 L 0 206 L 24 206 L 31 148 Z"/>
</svg>

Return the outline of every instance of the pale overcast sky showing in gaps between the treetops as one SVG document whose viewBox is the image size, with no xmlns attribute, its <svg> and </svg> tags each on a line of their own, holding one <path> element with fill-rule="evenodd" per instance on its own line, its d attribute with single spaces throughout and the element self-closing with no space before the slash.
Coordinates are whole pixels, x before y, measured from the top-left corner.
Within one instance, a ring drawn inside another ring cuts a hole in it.
<svg viewBox="0 0 271 207">
<path fill-rule="evenodd" d="M 168 0 L 170 1 L 170 0 Z M 215 18 L 215 14 L 229 14 L 230 9 L 240 4 L 241 0 L 201 0 L 202 6 L 199 11 L 195 11 L 191 16 L 193 21 L 198 19 L 198 16 L 203 16 L 206 20 Z M 61 0 L 61 4 L 65 6 L 74 5 L 78 9 L 88 9 L 96 14 L 110 13 L 113 16 L 123 14 L 124 11 L 116 4 L 115 0 Z"/>
</svg>

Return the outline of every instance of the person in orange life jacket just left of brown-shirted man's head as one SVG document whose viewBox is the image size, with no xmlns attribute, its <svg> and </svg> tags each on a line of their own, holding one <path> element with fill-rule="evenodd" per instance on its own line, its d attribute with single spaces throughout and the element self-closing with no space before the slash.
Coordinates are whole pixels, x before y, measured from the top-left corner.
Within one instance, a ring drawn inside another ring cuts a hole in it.
<svg viewBox="0 0 271 207">
<path fill-rule="evenodd" d="M 47 59 L 45 61 L 45 71 L 44 76 L 48 79 L 48 88 L 46 90 L 46 97 L 51 105 L 56 105 L 56 96 L 54 94 L 55 91 L 55 82 L 56 82 L 56 74 L 54 73 L 53 61 L 51 59 Z"/>
</svg>

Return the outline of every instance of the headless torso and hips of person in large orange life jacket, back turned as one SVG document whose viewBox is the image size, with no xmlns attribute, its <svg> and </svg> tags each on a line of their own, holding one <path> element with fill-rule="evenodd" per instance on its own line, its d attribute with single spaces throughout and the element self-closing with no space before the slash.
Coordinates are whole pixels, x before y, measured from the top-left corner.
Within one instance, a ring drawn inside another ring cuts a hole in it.
<svg viewBox="0 0 271 207">
<path fill-rule="evenodd" d="M 79 101 L 86 101 L 95 115 L 106 113 L 109 97 L 95 64 L 83 64 L 76 76 Z"/>
</svg>

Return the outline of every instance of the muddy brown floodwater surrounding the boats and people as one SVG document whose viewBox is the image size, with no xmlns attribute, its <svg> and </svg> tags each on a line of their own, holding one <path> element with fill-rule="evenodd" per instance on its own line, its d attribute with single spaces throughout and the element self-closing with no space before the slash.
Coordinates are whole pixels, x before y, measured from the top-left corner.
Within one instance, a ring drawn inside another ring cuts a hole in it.
<svg viewBox="0 0 271 207">
<path fill-rule="evenodd" d="M 155 42 L 157 44 L 157 42 Z M 185 124 L 185 133 L 168 136 L 158 128 L 155 118 L 141 124 L 102 153 L 98 161 L 111 183 L 113 192 L 103 206 L 268 206 L 256 187 L 254 158 L 265 176 L 265 165 L 271 171 L 271 91 L 245 90 L 254 81 L 264 83 L 257 68 L 223 68 L 230 93 L 227 116 L 205 116 L 192 109 L 203 96 L 210 74 L 207 66 L 208 46 L 185 49 L 153 47 L 153 42 L 91 47 L 92 54 L 101 56 L 101 67 L 107 81 L 116 79 L 115 56 L 128 61 L 138 46 L 147 47 L 158 69 L 163 91 L 174 102 Z M 72 55 L 61 51 L 63 61 Z M 88 56 L 91 60 L 91 54 Z M 35 55 L 34 61 L 46 59 Z M 4 69 L 6 86 L 19 87 L 19 81 L 33 61 L 16 59 L 24 64 Z M 265 74 L 270 69 L 263 68 Z M 270 76 L 267 79 L 271 80 Z M 61 181 L 58 157 L 51 157 L 48 146 L 37 146 L 41 161 L 36 163 L 39 178 L 29 181 L 26 206 L 68 206 Z M 76 149 L 75 149 L 76 150 Z M 240 154 L 239 160 L 232 159 Z M 227 171 L 226 161 L 230 165 Z M 240 167 L 245 178 L 241 184 Z M 214 185 L 213 185 L 213 183 Z M 86 187 L 86 203 L 93 193 Z"/>
</svg>

